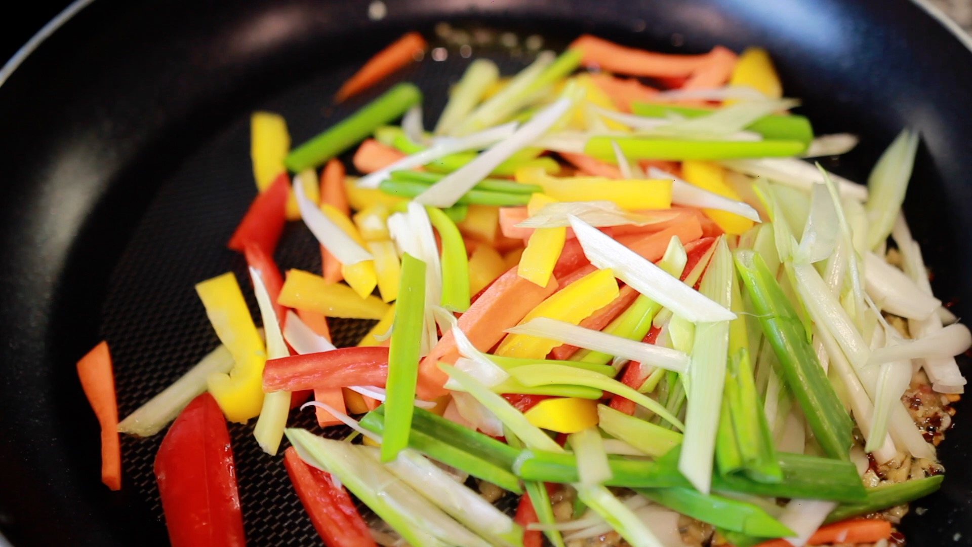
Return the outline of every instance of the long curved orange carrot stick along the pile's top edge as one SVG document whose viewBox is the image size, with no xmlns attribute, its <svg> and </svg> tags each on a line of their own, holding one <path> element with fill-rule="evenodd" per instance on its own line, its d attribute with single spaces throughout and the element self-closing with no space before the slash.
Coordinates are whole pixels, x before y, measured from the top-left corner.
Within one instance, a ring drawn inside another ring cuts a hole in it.
<svg viewBox="0 0 972 547">
<path fill-rule="evenodd" d="M 579 49 L 583 53 L 580 62 L 584 66 L 596 66 L 608 72 L 632 76 L 688 76 L 711 60 L 711 54 L 672 55 L 645 52 L 590 34 L 578 37 L 571 44 L 571 48 Z"/>
</svg>

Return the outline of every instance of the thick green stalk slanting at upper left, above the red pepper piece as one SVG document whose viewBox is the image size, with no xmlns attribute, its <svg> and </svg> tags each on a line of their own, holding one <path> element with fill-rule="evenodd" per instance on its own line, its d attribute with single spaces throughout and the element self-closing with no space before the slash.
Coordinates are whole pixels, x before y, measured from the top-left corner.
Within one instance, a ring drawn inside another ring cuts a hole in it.
<svg viewBox="0 0 972 547">
<path fill-rule="evenodd" d="M 324 164 L 419 102 L 422 102 L 422 91 L 414 84 L 399 84 L 295 148 L 284 159 L 284 164 L 294 172 Z"/>
</svg>

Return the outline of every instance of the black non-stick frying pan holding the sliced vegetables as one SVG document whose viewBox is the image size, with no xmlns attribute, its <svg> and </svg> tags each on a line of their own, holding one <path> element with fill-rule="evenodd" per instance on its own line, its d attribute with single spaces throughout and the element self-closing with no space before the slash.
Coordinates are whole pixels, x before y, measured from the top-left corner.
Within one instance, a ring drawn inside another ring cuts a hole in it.
<svg viewBox="0 0 972 547">
<path fill-rule="evenodd" d="M 0 529 L 20 545 L 165 543 L 151 462 L 158 438 L 123 442 L 124 489 L 98 481 L 98 434 L 74 362 L 101 338 L 116 358 L 121 415 L 216 344 L 192 284 L 242 260 L 224 248 L 252 199 L 247 119 L 283 112 L 296 142 L 347 107 L 329 97 L 406 29 L 434 23 L 581 31 L 672 52 L 767 47 L 818 132 L 850 130 L 858 150 L 832 165 L 864 180 L 903 126 L 920 129 L 907 212 L 960 315 L 972 284 L 972 54 L 905 0 L 98 0 L 0 86 Z M 489 48 L 512 72 L 522 59 Z M 437 114 L 468 60 L 426 60 L 416 81 Z M 377 92 L 377 91 L 375 91 Z M 427 123 L 434 120 L 429 116 Z M 277 258 L 314 268 L 292 226 Z M 310 249 L 308 251 L 307 249 Z M 353 325 L 337 334 L 345 342 Z M 909 544 L 972 544 L 972 436 L 959 406 L 941 456 L 941 492 L 903 529 Z M 160 435 L 158 436 L 160 437 Z M 313 545 L 279 458 L 233 429 L 254 545 Z"/>
</svg>

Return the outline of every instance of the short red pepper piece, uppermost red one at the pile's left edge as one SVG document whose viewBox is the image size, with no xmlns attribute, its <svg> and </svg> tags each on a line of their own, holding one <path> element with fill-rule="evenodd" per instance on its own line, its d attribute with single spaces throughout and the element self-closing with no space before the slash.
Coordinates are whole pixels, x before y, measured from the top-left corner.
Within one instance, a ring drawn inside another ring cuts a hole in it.
<svg viewBox="0 0 972 547">
<path fill-rule="evenodd" d="M 247 243 L 256 243 L 268 256 L 273 256 L 287 221 L 287 197 L 290 191 L 291 179 L 287 173 L 277 175 L 273 184 L 250 203 L 227 246 L 242 252 Z"/>
</svg>

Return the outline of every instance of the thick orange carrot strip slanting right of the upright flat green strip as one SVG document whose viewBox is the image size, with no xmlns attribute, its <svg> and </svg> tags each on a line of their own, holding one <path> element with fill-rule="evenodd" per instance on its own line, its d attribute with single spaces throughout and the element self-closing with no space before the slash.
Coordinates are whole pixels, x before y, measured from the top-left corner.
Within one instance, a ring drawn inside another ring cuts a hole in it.
<svg viewBox="0 0 972 547">
<path fill-rule="evenodd" d="M 459 317 L 459 328 L 463 329 L 473 346 L 488 351 L 506 336 L 503 331 L 519 323 L 559 286 L 557 278 L 552 275 L 547 285 L 540 287 L 520 277 L 516 268 L 511 268 L 500 275 Z M 442 385 L 448 377 L 437 365 L 439 361 L 455 363 L 457 358 L 459 349 L 456 340 L 451 332 L 445 333 L 419 365 L 419 397 L 432 400 L 446 393 Z"/>
</svg>

